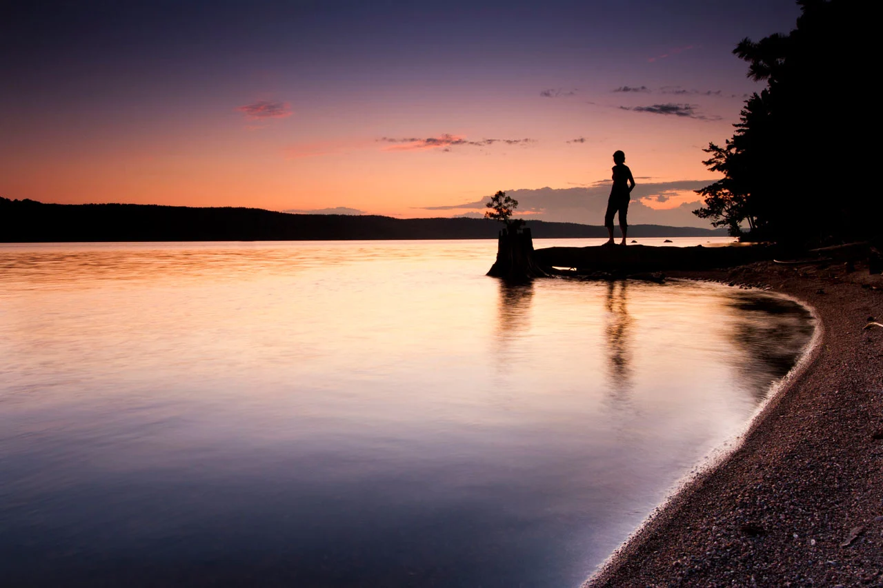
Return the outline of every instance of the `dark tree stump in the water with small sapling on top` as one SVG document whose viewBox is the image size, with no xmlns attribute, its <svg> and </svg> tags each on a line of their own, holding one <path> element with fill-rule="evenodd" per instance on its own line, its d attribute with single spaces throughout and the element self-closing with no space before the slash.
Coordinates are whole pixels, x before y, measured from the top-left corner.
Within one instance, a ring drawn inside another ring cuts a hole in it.
<svg viewBox="0 0 883 588">
<path fill-rule="evenodd" d="M 485 218 L 505 225 L 497 240 L 497 259 L 487 275 L 513 283 L 530 282 L 533 278 L 547 276 L 548 272 L 534 258 L 531 230 L 522 229 L 525 224 L 522 219 L 512 218 L 518 201 L 501 191 L 495 193 L 485 206 L 489 208 Z"/>
</svg>

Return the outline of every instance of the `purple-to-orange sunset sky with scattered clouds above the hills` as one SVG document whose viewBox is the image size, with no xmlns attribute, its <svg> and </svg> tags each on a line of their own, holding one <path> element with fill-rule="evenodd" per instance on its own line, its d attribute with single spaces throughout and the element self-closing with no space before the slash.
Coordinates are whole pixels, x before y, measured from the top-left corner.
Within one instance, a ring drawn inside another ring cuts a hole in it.
<svg viewBox="0 0 883 588">
<path fill-rule="evenodd" d="M 14 3 L 0 196 L 707 226 L 702 147 L 759 89 L 731 53 L 794 0 Z M 691 203 L 692 201 L 692 203 Z M 600 211 L 600 212 L 599 212 Z"/>
</svg>

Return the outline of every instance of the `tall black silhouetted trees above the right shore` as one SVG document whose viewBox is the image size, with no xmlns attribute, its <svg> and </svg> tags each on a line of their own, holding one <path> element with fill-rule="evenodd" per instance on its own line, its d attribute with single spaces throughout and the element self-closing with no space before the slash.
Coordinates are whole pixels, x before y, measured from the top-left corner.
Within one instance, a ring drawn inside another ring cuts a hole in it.
<svg viewBox="0 0 883 588">
<path fill-rule="evenodd" d="M 864 162 L 876 126 L 876 112 L 863 106 L 872 87 L 870 4 L 797 4 L 789 34 L 745 38 L 733 50 L 766 87 L 745 101 L 733 137 L 705 149 L 703 163 L 723 177 L 697 191 L 705 206 L 694 214 L 750 240 L 879 239 L 883 207 L 867 186 L 875 166 Z"/>
</svg>

